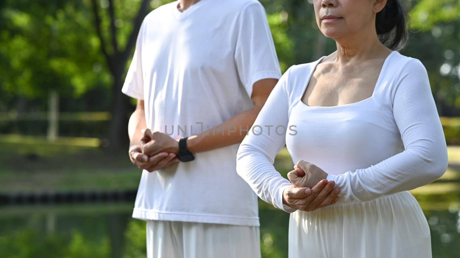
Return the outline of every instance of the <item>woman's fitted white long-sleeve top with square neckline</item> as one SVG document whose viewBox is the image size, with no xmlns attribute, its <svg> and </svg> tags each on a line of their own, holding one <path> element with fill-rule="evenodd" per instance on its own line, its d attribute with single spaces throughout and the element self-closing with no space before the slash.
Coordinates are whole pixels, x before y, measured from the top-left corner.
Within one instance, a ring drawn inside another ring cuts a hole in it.
<svg viewBox="0 0 460 258">
<path fill-rule="evenodd" d="M 292 184 L 273 166 L 286 144 L 300 159 L 326 171 L 340 188 L 337 203 L 368 201 L 441 177 L 448 155 L 426 68 L 397 51 L 386 58 L 371 97 L 322 107 L 301 101 L 316 62 L 282 75 L 238 152 L 237 173 L 276 208 Z"/>
</svg>

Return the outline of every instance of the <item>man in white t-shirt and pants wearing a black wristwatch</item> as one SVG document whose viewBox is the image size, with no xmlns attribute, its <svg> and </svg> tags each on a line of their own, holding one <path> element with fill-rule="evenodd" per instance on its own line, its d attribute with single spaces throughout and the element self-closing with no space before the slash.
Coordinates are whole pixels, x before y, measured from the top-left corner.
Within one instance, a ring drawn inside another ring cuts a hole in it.
<svg viewBox="0 0 460 258">
<path fill-rule="evenodd" d="M 122 92 L 138 99 L 132 217 L 147 221 L 149 258 L 260 257 L 236 152 L 280 77 L 257 0 L 176 0 L 144 18 Z"/>
</svg>

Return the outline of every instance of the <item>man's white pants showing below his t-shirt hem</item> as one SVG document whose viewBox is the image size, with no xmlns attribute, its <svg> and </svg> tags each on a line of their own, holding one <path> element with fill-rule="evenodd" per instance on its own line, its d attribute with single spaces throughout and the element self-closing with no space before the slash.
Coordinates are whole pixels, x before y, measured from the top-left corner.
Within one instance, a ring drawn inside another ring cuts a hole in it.
<svg viewBox="0 0 460 258">
<path fill-rule="evenodd" d="M 258 226 L 147 220 L 147 258 L 260 258 Z"/>
</svg>

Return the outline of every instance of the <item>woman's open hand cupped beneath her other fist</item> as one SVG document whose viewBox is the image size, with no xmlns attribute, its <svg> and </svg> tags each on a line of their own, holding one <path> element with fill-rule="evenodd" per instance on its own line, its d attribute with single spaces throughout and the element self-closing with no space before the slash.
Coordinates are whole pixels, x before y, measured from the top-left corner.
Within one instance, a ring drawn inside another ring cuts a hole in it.
<svg viewBox="0 0 460 258">
<path fill-rule="evenodd" d="M 311 189 L 308 187 L 290 186 L 283 191 L 283 203 L 295 209 L 311 212 L 337 202 L 340 192 L 334 188 L 334 181 L 323 179 Z"/>
</svg>

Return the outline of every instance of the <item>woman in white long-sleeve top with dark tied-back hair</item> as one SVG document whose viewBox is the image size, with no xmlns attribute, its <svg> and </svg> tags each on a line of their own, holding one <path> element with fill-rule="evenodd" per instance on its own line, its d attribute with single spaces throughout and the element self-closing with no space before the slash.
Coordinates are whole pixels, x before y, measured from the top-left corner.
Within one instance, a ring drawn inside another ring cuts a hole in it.
<svg viewBox="0 0 460 258">
<path fill-rule="evenodd" d="M 237 172 L 291 213 L 290 258 L 431 257 L 428 223 L 408 190 L 443 175 L 447 146 L 426 68 L 397 51 L 408 38 L 405 11 L 399 0 L 313 5 L 337 50 L 282 75 L 239 147 Z M 290 182 L 273 167 L 284 144 L 296 164 Z M 318 208 L 299 194 L 326 181 L 340 188 L 335 204 Z"/>
</svg>

